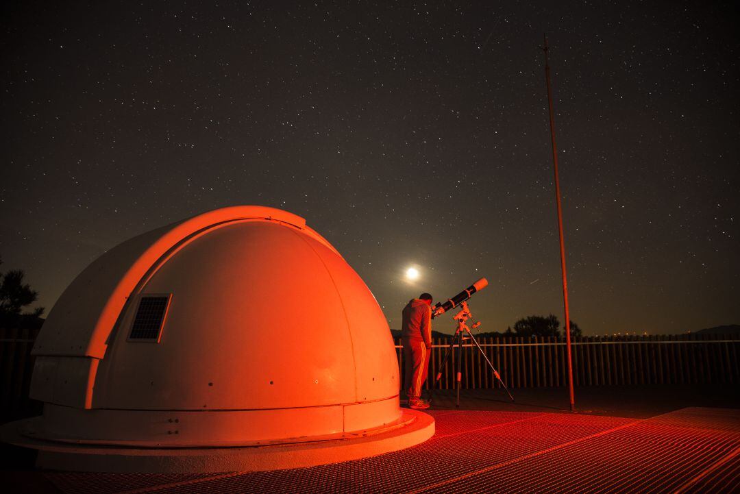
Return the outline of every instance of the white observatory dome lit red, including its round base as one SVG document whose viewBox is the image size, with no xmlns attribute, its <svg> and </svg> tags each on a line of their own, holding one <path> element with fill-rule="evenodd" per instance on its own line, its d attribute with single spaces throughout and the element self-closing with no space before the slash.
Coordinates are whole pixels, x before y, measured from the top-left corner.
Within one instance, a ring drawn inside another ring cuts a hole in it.
<svg viewBox="0 0 740 494">
<path fill-rule="evenodd" d="M 434 432 L 428 416 L 399 407 L 393 341 L 369 288 L 305 220 L 278 209 L 218 209 L 112 248 L 64 291 L 33 354 L 31 397 L 44 414 L 20 430 L 37 441 L 159 456 L 269 446 L 291 456 L 312 444 L 283 462 L 297 466 Z M 365 445 L 320 459 L 316 444 L 341 450 L 353 438 Z M 141 470 L 130 465 L 92 469 Z"/>
</svg>

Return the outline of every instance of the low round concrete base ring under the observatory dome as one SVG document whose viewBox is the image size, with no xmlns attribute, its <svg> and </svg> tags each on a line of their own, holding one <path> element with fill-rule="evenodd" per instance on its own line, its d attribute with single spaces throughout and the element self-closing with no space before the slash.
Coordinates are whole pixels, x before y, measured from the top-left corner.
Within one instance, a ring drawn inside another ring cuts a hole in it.
<svg viewBox="0 0 740 494">
<path fill-rule="evenodd" d="M 0 427 L 0 439 L 38 450 L 36 466 L 48 470 L 115 473 L 220 473 L 313 467 L 403 450 L 434 436 L 434 419 L 403 410 L 396 424 L 342 438 L 252 447 L 133 448 L 31 439 L 24 422 Z"/>
</svg>

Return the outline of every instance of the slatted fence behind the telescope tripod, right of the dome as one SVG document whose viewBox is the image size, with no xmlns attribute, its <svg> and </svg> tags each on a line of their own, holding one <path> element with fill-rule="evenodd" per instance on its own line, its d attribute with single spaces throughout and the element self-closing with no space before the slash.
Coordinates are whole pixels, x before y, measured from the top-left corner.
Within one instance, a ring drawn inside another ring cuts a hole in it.
<svg viewBox="0 0 740 494">
<path fill-rule="evenodd" d="M 554 337 L 477 338 L 508 388 L 568 384 L 565 341 Z M 429 357 L 429 389 L 442 365 L 449 341 L 434 339 Z M 587 336 L 573 338 L 573 385 L 736 384 L 740 382 L 738 336 Z M 403 384 L 403 350 L 396 341 Z M 457 348 L 441 369 L 439 389 L 452 389 Z M 462 345 L 462 388 L 498 388 L 480 351 Z"/>
</svg>

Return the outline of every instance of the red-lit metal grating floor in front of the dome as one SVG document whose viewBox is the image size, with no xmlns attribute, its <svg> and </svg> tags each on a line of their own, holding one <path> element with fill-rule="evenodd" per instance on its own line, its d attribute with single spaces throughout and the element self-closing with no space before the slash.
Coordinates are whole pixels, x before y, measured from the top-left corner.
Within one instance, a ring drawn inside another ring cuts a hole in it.
<svg viewBox="0 0 740 494">
<path fill-rule="evenodd" d="M 437 433 L 397 453 L 277 472 L 45 473 L 63 493 L 730 493 L 740 410 L 647 420 L 565 413 L 431 412 Z"/>
</svg>

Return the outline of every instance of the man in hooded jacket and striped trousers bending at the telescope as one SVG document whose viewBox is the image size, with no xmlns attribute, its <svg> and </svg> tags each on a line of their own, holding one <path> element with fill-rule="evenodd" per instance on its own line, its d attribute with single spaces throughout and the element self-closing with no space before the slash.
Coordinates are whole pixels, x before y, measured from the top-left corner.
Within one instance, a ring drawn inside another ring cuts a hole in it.
<svg viewBox="0 0 740 494">
<path fill-rule="evenodd" d="M 408 406 L 417 410 L 429 407 L 421 398 L 431 351 L 431 295 L 421 294 L 403 308 L 401 328 L 403 338 L 403 366 Z"/>
</svg>

